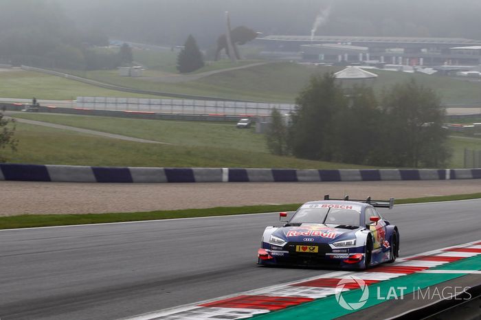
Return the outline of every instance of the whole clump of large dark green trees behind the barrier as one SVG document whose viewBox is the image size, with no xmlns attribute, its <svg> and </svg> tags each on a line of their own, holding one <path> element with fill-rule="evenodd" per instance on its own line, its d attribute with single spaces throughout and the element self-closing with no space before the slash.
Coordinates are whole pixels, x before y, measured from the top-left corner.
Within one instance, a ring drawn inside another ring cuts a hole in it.
<svg viewBox="0 0 481 320">
<path fill-rule="evenodd" d="M 414 80 L 385 91 L 379 106 L 372 89 L 345 95 L 326 74 L 313 77 L 296 102 L 288 141 L 295 157 L 410 168 L 449 159 L 445 109 Z"/>
</svg>

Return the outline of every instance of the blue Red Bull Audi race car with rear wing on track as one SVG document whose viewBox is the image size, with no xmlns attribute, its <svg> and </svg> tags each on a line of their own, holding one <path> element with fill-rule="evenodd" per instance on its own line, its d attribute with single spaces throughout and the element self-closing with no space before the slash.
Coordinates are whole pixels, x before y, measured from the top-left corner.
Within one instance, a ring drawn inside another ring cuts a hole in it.
<svg viewBox="0 0 481 320">
<path fill-rule="evenodd" d="M 280 212 L 283 227 L 266 227 L 258 264 L 337 266 L 367 269 L 399 256 L 399 230 L 384 220 L 377 207 L 389 201 L 331 199 L 304 203 L 291 217 Z"/>
</svg>

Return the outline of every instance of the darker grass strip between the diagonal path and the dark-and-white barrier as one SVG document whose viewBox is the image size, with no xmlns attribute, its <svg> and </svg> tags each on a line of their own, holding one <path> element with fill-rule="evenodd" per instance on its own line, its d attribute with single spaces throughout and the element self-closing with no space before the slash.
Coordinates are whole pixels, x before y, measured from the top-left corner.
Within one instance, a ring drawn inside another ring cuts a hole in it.
<svg viewBox="0 0 481 320">
<path fill-rule="evenodd" d="M 1 151 L 10 163 L 177 168 L 368 168 L 218 146 L 139 144 L 21 123 L 17 124 L 15 137 L 19 139 L 18 150 Z M 221 139 L 219 137 L 216 141 Z M 215 141 L 212 144 L 215 145 Z"/>
</svg>

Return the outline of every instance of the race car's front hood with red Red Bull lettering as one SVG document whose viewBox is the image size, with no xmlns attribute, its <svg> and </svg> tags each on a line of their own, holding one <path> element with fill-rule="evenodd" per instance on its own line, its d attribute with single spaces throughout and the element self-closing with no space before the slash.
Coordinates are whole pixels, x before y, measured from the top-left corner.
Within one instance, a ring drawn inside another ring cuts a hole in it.
<svg viewBox="0 0 481 320">
<path fill-rule="evenodd" d="M 361 227 L 302 224 L 299 227 L 281 227 L 273 235 L 288 242 L 331 243 L 333 240 L 354 238 L 354 233 L 359 229 Z"/>
</svg>

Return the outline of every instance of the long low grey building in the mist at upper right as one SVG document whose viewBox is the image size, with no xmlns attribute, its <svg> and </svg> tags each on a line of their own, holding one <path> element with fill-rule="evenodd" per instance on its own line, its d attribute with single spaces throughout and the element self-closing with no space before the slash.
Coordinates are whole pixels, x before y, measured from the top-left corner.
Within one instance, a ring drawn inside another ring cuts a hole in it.
<svg viewBox="0 0 481 320">
<path fill-rule="evenodd" d="M 266 36 L 267 52 L 296 52 L 309 62 L 377 61 L 392 65 L 480 65 L 481 41 L 465 38 L 382 36 Z"/>
</svg>

